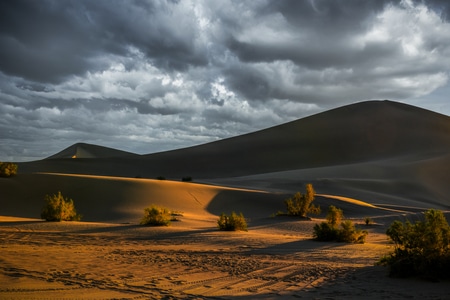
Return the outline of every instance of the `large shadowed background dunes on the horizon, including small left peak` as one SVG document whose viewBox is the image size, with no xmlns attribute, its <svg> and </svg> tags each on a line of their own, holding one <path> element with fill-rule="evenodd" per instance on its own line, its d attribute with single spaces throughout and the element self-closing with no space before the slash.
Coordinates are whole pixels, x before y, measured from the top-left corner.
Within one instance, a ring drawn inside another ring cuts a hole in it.
<svg viewBox="0 0 450 300">
<path fill-rule="evenodd" d="M 77 149 L 95 152 L 95 158 L 65 158 Z M 400 199 L 402 205 L 413 201 L 414 206 L 450 207 L 450 118 L 391 101 L 357 103 L 162 153 L 141 156 L 108 148 L 102 151 L 98 146 L 77 144 L 52 159 L 23 163 L 19 168 L 22 173 L 173 180 L 191 176 L 201 182 L 287 193 L 312 182 L 320 193 L 370 203 Z"/>
</svg>

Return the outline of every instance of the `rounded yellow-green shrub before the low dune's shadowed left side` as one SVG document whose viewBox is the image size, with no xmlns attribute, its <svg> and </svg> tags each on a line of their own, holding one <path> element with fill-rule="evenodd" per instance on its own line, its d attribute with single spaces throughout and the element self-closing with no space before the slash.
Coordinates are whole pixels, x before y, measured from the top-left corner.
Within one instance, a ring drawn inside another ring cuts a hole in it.
<svg viewBox="0 0 450 300">
<path fill-rule="evenodd" d="M 41 218 L 46 221 L 80 221 L 81 215 L 77 214 L 73 200 L 64 198 L 61 192 L 55 195 L 45 195 L 45 206 L 41 212 Z"/>
</svg>

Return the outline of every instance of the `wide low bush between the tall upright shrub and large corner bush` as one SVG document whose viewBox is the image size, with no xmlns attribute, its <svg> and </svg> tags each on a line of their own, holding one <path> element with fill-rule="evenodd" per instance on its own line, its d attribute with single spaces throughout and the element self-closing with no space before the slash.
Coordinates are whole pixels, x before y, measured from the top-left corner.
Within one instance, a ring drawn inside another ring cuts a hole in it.
<svg viewBox="0 0 450 300">
<path fill-rule="evenodd" d="M 363 244 L 367 231 L 355 227 L 352 221 L 345 220 L 341 209 L 335 206 L 328 208 L 327 221 L 314 226 L 314 238 L 318 241 L 335 241 Z"/>
</svg>

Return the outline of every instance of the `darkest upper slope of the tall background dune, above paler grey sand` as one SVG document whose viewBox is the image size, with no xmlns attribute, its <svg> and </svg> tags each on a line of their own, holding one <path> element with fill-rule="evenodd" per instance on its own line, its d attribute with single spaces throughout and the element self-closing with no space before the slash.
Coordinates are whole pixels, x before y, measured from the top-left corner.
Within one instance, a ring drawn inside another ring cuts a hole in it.
<svg viewBox="0 0 450 300">
<path fill-rule="evenodd" d="M 449 149 L 448 116 L 391 101 L 367 101 L 190 148 L 117 158 L 105 150 L 95 160 L 59 155 L 61 159 L 22 163 L 20 168 L 22 172 L 211 179 L 400 156 L 427 159 Z"/>
</svg>

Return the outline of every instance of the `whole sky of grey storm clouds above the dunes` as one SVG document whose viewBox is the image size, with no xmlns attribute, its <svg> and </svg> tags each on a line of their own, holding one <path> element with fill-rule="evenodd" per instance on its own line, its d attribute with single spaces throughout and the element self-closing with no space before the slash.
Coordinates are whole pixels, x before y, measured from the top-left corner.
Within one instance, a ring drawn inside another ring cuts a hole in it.
<svg viewBox="0 0 450 300">
<path fill-rule="evenodd" d="M 1 1 L 0 161 L 151 153 L 369 99 L 450 115 L 448 1 Z"/>
</svg>

